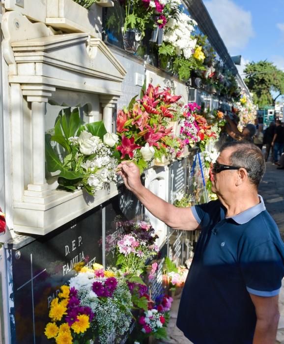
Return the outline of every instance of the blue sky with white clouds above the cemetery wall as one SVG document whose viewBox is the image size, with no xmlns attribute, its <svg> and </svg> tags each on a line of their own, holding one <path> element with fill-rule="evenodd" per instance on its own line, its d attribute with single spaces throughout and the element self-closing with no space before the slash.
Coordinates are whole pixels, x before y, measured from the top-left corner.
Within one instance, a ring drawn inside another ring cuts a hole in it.
<svg viewBox="0 0 284 344">
<path fill-rule="evenodd" d="M 284 0 L 203 0 L 230 55 L 284 69 Z"/>
</svg>

